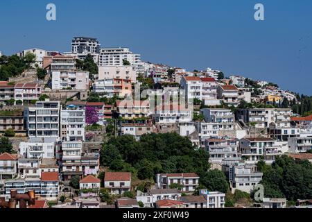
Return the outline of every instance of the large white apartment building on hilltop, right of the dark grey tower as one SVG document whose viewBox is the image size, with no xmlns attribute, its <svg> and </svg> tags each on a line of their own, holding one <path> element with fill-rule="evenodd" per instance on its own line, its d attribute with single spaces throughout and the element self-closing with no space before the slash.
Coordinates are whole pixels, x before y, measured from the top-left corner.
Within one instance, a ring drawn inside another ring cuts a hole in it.
<svg viewBox="0 0 312 222">
<path fill-rule="evenodd" d="M 128 48 L 104 48 L 100 51 L 98 65 L 103 66 L 121 66 L 123 60 L 130 62 L 130 65 L 137 66 L 141 62 L 141 55 L 132 53 Z"/>
</svg>

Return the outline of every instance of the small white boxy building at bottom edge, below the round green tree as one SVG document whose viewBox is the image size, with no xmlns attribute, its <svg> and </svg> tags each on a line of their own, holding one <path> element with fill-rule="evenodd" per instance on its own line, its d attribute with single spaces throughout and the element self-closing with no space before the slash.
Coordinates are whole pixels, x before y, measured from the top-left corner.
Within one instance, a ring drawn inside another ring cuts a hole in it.
<svg viewBox="0 0 312 222">
<path fill-rule="evenodd" d="M 207 189 L 200 189 L 200 195 L 207 200 L 207 208 L 224 208 L 225 194 L 219 191 L 210 192 Z"/>
</svg>

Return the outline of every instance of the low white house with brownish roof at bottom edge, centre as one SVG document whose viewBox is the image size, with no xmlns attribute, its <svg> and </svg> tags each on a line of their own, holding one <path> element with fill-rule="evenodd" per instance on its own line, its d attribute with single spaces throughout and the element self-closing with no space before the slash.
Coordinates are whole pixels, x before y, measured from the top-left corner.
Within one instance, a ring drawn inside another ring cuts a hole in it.
<svg viewBox="0 0 312 222">
<path fill-rule="evenodd" d="M 179 200 L 181 193 L 177 189 L 150 189 L 148 193 L 137 192 L 137 202 L 144 203 L 144 207 L 156 207 L 157 200 Z"/>
</svg>

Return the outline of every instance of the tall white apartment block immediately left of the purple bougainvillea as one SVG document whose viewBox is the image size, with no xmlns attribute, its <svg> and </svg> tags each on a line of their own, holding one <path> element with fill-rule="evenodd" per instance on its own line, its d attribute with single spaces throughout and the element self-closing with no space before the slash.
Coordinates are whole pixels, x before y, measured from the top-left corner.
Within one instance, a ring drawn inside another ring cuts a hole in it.
<svg viewBox="0 0 312 222">
<path fill-rule="evenodd" d="M 61 111 L 62 141 L 85 141 L 85 102 L 69 102 Z"/>
</svg>

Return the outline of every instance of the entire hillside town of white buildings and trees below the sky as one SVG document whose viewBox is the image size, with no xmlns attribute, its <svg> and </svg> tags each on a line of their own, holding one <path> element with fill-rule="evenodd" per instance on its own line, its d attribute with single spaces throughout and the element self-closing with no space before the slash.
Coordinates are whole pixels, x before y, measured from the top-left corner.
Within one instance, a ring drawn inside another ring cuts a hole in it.
<svg viewBox="0 0 312 222">
<path fill-rule="evenodd" d="M 0 52 L 0 208 L 312 208 L 312 95 L 69 47 Z"/>
</svg>

